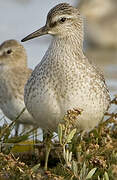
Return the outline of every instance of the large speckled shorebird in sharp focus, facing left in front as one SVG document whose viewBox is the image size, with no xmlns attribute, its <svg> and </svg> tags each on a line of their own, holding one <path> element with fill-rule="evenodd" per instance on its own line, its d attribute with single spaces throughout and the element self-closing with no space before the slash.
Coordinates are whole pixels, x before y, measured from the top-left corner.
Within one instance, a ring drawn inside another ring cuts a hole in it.
<svg viewBox="0 0 117 180">
<path fill-rule="evenodd" d="M 42 129 L 57 131 L 69 109 L 83 109 L 78 130 L 91 130 L 103 119 L 110 96 L 101 73 L 83 53 L 83 19 L 62 3 L 50 10 L 46 25 L 22 41 L 51 34 L 52 42 L 32 72 L 24 93 L 28 111 Z"/>
</svg>

